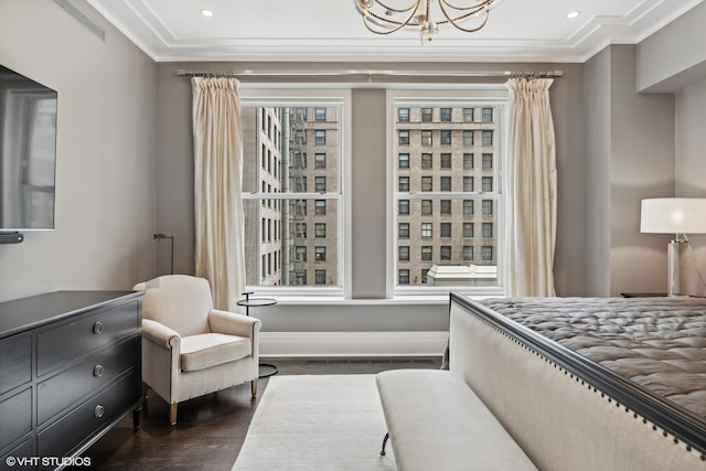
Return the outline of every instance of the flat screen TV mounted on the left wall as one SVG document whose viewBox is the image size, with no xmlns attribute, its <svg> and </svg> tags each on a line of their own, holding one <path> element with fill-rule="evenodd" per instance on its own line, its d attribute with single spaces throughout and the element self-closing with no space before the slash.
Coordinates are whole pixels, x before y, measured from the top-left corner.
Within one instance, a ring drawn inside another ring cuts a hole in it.
<svg viewBox="0 0 706 471">
<path fill-rule="evenodd" d="M 0 231 L 54 228 L 55 90 L 0 65 Z"/>
</svg>

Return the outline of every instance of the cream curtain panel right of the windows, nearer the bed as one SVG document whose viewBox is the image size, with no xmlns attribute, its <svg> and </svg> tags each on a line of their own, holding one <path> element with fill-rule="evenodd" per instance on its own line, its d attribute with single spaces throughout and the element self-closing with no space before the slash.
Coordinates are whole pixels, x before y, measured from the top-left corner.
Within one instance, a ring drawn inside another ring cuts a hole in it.
<svg viewBox="0 0 706 471">
<path fill-rule="evenodd" d="M 511 78 L 505 161 L 507 296 L 555 296 L 556 150 L 550 78 Z"/>
</svg>

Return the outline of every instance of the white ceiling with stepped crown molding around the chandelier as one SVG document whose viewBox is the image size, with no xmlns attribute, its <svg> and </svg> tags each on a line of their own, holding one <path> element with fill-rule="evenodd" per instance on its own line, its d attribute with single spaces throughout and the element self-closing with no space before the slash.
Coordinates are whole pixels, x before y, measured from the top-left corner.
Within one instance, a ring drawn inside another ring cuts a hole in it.
<svg viewBox="0 0 706 471">
<path fill-rule="evenodd" d="M 424 45 L 416 31 L 371 33 L 355 0 L 86 1 L 158 62 L 585 62 L 608 44 L 639 43 L 703 0 L 502 0 L 482 30 L 443 29 Z M 570 11 L 581 14 L 569 20 Z"/>
</svg>

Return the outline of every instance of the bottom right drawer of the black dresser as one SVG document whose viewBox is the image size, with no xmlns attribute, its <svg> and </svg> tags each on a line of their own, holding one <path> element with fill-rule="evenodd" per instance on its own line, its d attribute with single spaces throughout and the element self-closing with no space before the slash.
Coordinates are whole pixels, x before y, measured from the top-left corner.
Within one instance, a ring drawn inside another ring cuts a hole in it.
<svg viewBox="0 0 706 471">
<path fill-rule="evenodd" d="M 133 368 L 117 383 L 86 399 L 61 420 L 40 431 L 36 454 L 69 456 L 82 441 L 129 410 L 140 399 L 140 389 L 139 371 Z"/>
</svg>

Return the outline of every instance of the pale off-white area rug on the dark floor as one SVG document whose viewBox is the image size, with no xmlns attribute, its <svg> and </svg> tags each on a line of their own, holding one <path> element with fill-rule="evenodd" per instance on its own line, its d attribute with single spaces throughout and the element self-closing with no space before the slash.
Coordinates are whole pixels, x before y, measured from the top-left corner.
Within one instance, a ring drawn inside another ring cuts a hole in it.
<svg viewBox="0 0 706 471">
<path fill-rule="evenodd" d="M 396 470 L 374 375 L 272 376 L 233 470 Z"/>
</svg>

